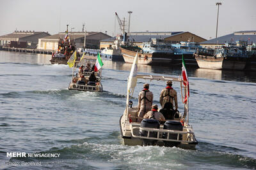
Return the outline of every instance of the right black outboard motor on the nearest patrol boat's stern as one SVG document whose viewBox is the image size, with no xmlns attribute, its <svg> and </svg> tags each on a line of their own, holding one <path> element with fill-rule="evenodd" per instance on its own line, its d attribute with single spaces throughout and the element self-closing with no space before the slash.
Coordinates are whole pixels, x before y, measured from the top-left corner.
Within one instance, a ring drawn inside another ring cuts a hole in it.
<svg viewBox="0 0 256 170">
<path fill-rule="evenodd" d="M 183 131 L 183 126 L 180 122 L 174 121 L 174 120 L 168 120 L 164 123 L 164 128 L 168 130 L 173 131 Z M 168 133 L 163 133 L 163 138 L 167 139 Z M 178 134 L 169 134 L 168 139 L 176 139 L 177 140 Z M 182 134 L 179 136 L 179 140 L 182 140 Z M 174 141 L 164 141 L 164 146 L 178 146 L 180 145 L 180 142 L 174 142 Z"/>
</svg>

